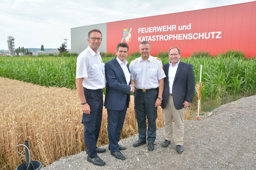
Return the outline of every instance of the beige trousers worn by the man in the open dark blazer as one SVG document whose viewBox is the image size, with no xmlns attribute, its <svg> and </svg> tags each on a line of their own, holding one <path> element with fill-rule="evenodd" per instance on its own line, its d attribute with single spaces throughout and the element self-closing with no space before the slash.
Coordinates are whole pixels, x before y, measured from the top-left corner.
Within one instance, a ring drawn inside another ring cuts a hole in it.
<svg viewBox="0 0 256 170">
<path fill-rule="evenodd" d="M 174 120 L 174 144 L 183 145 L 185 108 L 177 110 L 173 98 L 169 96 L 168 104 L 163 109 L 165 139 L 171 141 L 173 135 L 172 122 Z"/>
</svg>

